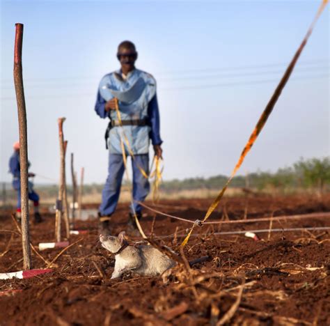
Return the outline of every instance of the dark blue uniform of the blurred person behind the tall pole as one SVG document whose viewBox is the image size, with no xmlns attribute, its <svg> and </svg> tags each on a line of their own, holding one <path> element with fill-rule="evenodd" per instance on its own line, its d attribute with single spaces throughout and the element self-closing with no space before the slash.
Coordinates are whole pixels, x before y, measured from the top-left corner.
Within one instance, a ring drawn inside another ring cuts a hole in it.
<svg viewBox="0 0 330 326">
<path fill-rule="evenodd" d="M 28 163 L 30 166 L 30 162 Z M 20 172 L 20 165 L 19 165 L 19 153 L 14 152 L 11 155 L 9 160 L 9 169 L 10 173 L 13 174 L 13 188 L 17 191 L 17 210 L 19 211 L 21 208 L 21 172 Z M 33 191 L 33 183 L 29 181 L 29 199 L 34 202 L 34 205 L 38 205 L 39 196 L 38 194 Z"/>
</svg>

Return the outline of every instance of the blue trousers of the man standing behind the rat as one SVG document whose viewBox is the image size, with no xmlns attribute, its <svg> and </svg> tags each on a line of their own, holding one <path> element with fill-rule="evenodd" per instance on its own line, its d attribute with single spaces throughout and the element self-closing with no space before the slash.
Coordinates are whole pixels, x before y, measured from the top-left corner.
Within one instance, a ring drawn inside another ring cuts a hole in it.
<svg viewBox="0 0 330 326">
<path fill-rule="evenodd" d="M 142 175 L 138 166 L 149 174 L 149 154 L 135 155 L 134 160 L 132 159 L 133 205 L 136 213 L 141 212 L 141 205 L 136 201 L 144 201 L 150 192 L 149 180 Z M 102 216 L 109 216 L 116 210 L 124 171 L 123 155 L 109 154 L 108 178 L 102 190 L 102 203 L 99 208 Z"/>
</svg>

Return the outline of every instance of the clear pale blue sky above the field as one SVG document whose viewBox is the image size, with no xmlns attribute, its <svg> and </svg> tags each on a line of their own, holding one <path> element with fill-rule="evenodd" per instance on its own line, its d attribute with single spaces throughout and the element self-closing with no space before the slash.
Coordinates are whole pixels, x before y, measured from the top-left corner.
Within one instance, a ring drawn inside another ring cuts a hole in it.
<svg viewBox="0 0 330 326">
<path fill-rule="evenodd" d="M 107 177 L 107 121 L 94 104 L 100 78 L 118 68 L 120 41 L 136 44 L 136 67 L 157 79 L 164 178 L 229 175 L 320 6 L 312 0 L 0 1 L 0 181 L 11 180 L 8 159 L 18 138 L 13 46 L 20 22 L 31 171 L 58 180 L 57 118 L 65 116 L 68 153 L 77 171 L 85 167 L 87 183 Z M 328 6 L 239 173 L 329 155 L 329 125 Z"/>
</svg>

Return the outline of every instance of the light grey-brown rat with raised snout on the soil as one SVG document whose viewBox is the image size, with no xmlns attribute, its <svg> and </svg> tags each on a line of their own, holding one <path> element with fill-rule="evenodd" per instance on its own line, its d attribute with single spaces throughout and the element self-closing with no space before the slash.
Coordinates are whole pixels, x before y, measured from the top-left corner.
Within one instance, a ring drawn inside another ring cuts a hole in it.
<svg viewBox="0 0 330 326">
<path fill-rule="evenodd" d="M 117 238 L 100 234 L 102 247 L 116 255 L 115 269 L 111 279 L 120 277 L 125 271 L 144 276 L 156 276 L 176 265 L 175 261 L 152 246 L 128 246 L 124 235 L 125 232 L 120 232 Z"/>
</svg>

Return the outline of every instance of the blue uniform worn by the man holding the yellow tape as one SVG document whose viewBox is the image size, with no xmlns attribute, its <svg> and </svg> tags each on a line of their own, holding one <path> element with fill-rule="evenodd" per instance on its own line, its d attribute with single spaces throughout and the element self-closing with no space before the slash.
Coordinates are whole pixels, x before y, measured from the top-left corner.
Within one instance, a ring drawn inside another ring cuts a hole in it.
<svg viewBox="0 0 330 326">
<path fill-rule="evenodd" d="M 115 110 L 105 111 L 105 104 L 111 98 L 118 98 L 118 107 L 122 121 L 147 121 L 146 125 L 124 125 L 111 127 L 107 145 L 109 148 L 108 178 L 102 191 L 101 215 L 111 215 L 116 210 L 120 194 L 120 185 L 123 180 L 125 166 L 123 163 L 122 146 L 120 139 L 123 133 L 129 141 L 134 154 L 133 169 L 133 198 L 134 201 L 143 201 L 150 191 L 148 179 L 139 171 L 140 166 L 149 173 L 149 145 L 162 144 L 159 134 L 159 109 L 156 94 L 155 79 L 141 70 L 129 72 L 126 79 L 122 78 L 121 71 L 105 75 L 97 92 L 95 111 L 101 118 L 110 118 L 118 121 Z M 121 100 L 120 100 L 121 99 Z M 129 148 L 124 141 L 126 155 Z M 134 202 L 135 212 L 141 212 L 141 205 Z"/>
</svg>

